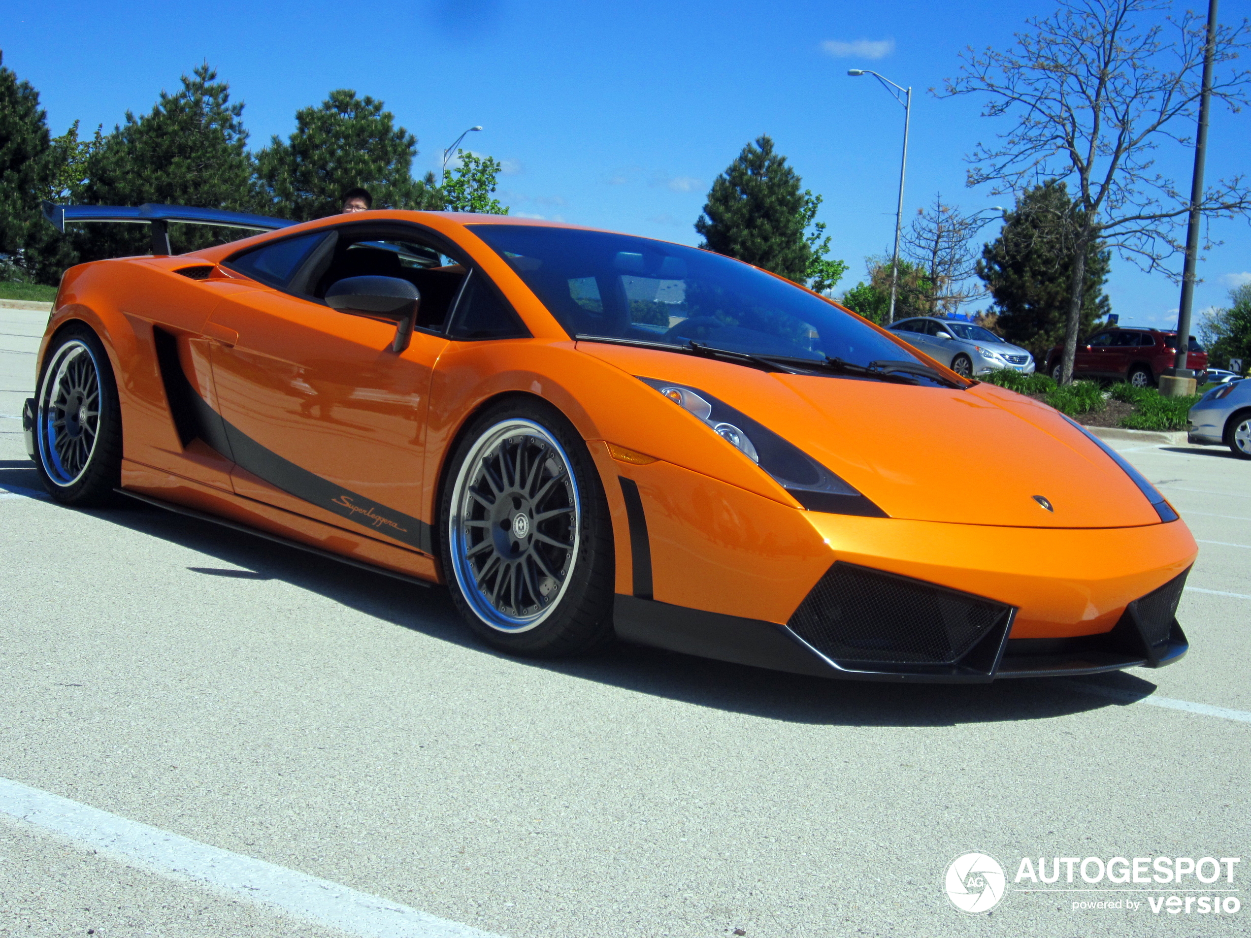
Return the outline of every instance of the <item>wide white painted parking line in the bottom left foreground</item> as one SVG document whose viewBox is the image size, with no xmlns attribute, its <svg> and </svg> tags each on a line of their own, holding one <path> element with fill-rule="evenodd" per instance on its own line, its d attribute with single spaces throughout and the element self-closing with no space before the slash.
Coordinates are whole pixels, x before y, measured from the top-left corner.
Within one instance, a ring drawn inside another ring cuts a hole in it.
<svg viewBox="0 0 1251 938">
<path fill-rule="evenodd" d="M 0 779 L 0 812 L 163 877 L 368 938 L 499 938 L 378 895 L 265 860 L 210 847 L 148 824 L 79 804 L 20 782 Z"/>
</svg>

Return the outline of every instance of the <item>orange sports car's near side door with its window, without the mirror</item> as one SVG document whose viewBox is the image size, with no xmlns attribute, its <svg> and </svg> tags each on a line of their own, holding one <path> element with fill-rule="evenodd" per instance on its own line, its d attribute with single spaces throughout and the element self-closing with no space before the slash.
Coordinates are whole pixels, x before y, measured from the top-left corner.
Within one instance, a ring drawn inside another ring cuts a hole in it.
<svg viewBox="0 0 1251 938">
<path fill-rule="evenodd" d="M 367 244 L 369 236 L 349 228 L 228 261 L 258 280 L 254 291 L 223 299 L 206 329 L 238 464 L 231 483 L 240 495 L 428 552 L 424 421 L 447 339 L 418 328 L 397 354 L 394 323 L 330 309 L 318 296 L 344 275 L 413 279 L 394 245 Z"/>
</svg>

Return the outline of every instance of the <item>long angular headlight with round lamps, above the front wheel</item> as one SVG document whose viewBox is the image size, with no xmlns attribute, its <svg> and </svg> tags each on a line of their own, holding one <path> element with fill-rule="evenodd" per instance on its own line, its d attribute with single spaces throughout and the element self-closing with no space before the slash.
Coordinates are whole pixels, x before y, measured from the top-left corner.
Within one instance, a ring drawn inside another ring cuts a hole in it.
<svg viewBox="0 0 1251 938">
<path fill-rule="evenodd" d="M 888 517 L 802 449 L 742 410 L 684 384 L 642 376 L 639 380 L 702 420 L 713 433 L 773 477 L 778 485 L 809 512 Z"/>
</svg>

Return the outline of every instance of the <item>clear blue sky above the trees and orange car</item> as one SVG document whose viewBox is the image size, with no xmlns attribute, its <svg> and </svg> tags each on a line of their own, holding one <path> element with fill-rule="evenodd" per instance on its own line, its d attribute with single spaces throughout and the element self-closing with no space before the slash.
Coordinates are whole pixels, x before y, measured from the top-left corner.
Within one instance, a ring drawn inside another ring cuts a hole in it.
<svg viewBox="0 0 1251 938">
<path fill-rule="evenodd" d="M 1226 5 L 1226 16 L 1232 15 Z M 1051 4 L 409 0 L 125 5 L 6 0 L 4 64 L 39 89 L 53 133 L 150 110 L 160 89 L 208 60 L 246 103 L 251 145 L 286 135 L 298 108 L 330 89 L 382 98 L 419 139 L 414 171 L 482 124 L 465 145 L 504 161 L 513 213 L 694 244 L 712 179 L 769 134 L 824 196 L 833 254 L 851 264 L 893 233 L 902 109 L 872 68 L 912 85 L 904 218 L 941 191 L 966 210 L 1010 204 L 965 186 L 963 158 L 1005 129 L 971 99 L 938 100 L 968 45 L 1006 46 Z M 1245 165 L 1246 114 L 1213 111 L 1208 178 Z M 1166 154 L 1188 186 L 1190 154 Z M 995 229 L 987 228 L 990 236 Z M 1225 244 L 1200 265 L 1196 310 L 1251 281 L 1251 228 L 1220 221 Z M 1181 259 L 1176 260 L 1180 269 Z M 1113 260 L 1126 324 L 1176 321 L 1178 289 Z"/>
</svg>

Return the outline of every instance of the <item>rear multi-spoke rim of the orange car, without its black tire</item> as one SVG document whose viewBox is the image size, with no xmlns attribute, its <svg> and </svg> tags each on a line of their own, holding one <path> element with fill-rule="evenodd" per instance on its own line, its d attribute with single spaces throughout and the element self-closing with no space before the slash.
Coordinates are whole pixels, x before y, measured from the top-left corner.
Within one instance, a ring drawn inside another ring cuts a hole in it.
<svg viewBox="0 0 1251 938">
<path fill-rule="evenodd" d="M 56 349 L 35 400 L 35 445 L 51 483 L 83 478 L 100 439 L 100 365 L 81 339 Z"/>
</svg>

